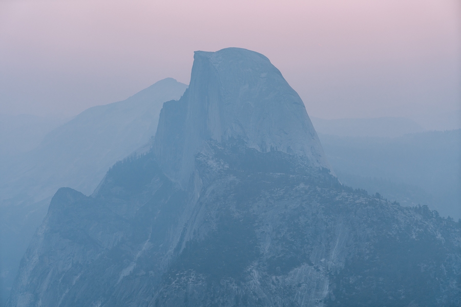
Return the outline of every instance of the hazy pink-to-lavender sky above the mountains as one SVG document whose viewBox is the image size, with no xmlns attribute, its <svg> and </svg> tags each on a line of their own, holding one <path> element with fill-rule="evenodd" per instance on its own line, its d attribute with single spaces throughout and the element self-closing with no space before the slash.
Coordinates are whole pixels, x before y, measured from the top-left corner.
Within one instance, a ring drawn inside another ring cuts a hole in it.
<svg viewBox="0 0 461 307">
<path fill-rule="evenodd" d="M 461 109 L 458 0 L 0 0 L 0 114 L 70 117 L 188 83 L 194 51 L 226 47 L 266 55 L 310 116 Z"/>
</svg>

